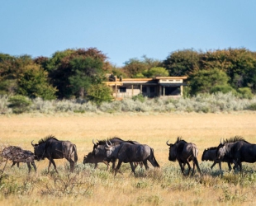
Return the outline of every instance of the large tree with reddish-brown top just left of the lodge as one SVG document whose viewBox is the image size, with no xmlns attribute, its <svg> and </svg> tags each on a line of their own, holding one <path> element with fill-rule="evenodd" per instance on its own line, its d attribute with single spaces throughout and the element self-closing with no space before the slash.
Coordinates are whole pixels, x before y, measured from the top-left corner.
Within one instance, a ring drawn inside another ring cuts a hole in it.
<svg viewBox="0 0 256 206">
<path fill-rule="evenodd" d="M 107 56 L 95 48 L 65 50 L 54 55 L 46 68 L 59 98 L 83 97 L 91 84 L 101 83 L 110 69 Z"/>
</svg>

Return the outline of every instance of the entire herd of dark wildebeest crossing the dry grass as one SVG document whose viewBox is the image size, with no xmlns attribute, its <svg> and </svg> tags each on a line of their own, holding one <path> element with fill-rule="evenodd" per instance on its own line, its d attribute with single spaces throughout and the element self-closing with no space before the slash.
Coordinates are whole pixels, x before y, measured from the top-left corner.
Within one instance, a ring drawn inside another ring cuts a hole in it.
<svg viewBox="0 0 256 206">
<path fill-rule="evenodd" d="M 179 163 L 182 174 L 184 174 L 184 167 L 188 166 L 187 175 L 191 171 L 189 162 L 192 162 L 193 170 L 195 173 L 195 166 L 197 171 L 201 174 L 201 169 L 197 160 L 198 148 L 195 143 L 187 143 L 183 138 L 178 137 L 175 143 L 166 144 L 169 147 L 168 160 Z M 120 172 L 121 163 L 130 163 L 131 171 L 135 174 L 135 168 L 140 165 L 142 168 L 148 170 L 148 162 L 154 167 L 159 167 L 159 163 L 154 157 L 154 149 L 146 144 L 138 143 L 132 140 L 123 140 L 121 138 L 108 138 L 105 140 L 97 140 L 95 142 L 92 139 L 93 147 L 92 152 L 89 152 L 83 157 L 83 164 L 93 163 L 95 169 L 97 164 L 103 162 L 107 165 L 107 171 L 109 171 L 110 163 L 112 164 L 112 170 L 115 173 Z M 2 157 L 6 161 L 12 161 L 12 166 L 20 162 L 26 162 L 29 172 L 31 171 L 31 165 L 36 171 L 36 161 L 49 160 L 48 172 L 50 171 L 51 164 L 54 165 L 55 171 L 57 171 L 54 159 L 65 158 L 69 161 L 70 171 L 74 170 L 75 163 L 78 162 L 78 154 L 76 145 L 69 141 L 60 141 L 53 135 L 49 135 L 46 138 L 40 139 L 36 144 L 31 142 L 34 147 L 34 153 L 31 151 L 23 150 L 21 147 L 9 146 L 2 150 Z M 116 161 L 118 164 L 116 166 Z M 209 147 L 204 150 L 201 156 L 201 161 L 211 161 L 213 166 L 216 163 L 220 166 L 221 162 L 227 162 L 230 171 L 232 170 L 231 164 L 234 164 L 233 169 L 239 169 L 242 172 L 242 162 L 256 162 L 256 144 L 248 143 L 244 138 L 235 136 L 225 140 L 220 140 L 220 144 L 216 147 Z M 30 165 L 31 164 L 31 165 Z"/>
</svg>

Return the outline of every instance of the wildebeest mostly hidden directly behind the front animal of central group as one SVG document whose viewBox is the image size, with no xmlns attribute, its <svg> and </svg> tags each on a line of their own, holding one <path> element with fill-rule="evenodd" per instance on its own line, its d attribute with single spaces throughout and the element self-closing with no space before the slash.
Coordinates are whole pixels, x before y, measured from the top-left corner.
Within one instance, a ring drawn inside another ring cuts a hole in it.
<svg viewBox="0 0 256 206">
<path fill-rule="evenodd" d="M 94 142 L 94 140 L 92 139 L 92 143 L 93 143 L 93 148 L 92 148 L 92 155 L 98 160 L 98 161 L 106 161 L 106 152 L 105 152 L 105 147 L 106 147 L 106 142 L 111 142 L 111 143 L 116 143 L 116 144 L 120 144 L 120 143 L 131 143 L 131 144 L 140 144 L 136 141 L 133 140 L 123 140 L 121 138 L 108 138 L 107 140 L 97 140 L 97 143 Z M 112 162 L 112 170 L 115 171 L 116 168 L 116 159 L 115 158 L 111 158 L 108 159 L 107 162 Z M 105 162 L 104 162 L 105 163 Z M 106 164 L 106 163 L 105 163 Z M 140 167 L 143 166 L 142 162 L 134 162 L 135 168 L 140 164 Z"/>
</svg>

